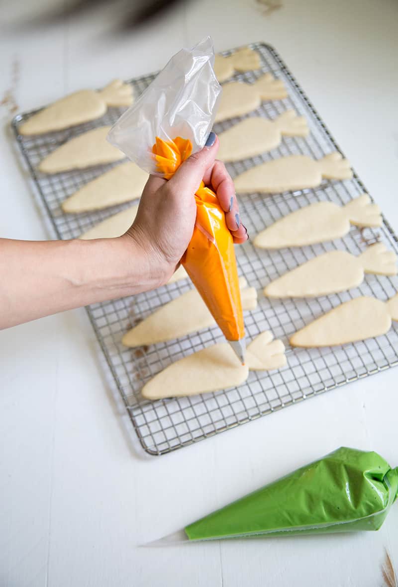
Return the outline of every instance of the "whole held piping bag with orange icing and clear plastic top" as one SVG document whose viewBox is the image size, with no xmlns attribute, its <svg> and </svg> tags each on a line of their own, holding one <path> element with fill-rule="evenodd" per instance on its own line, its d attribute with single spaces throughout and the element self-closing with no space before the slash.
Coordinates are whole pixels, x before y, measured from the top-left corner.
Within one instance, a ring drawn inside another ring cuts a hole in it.
<svg viewBox="0 0 398 587">
<path fill-rule="evenodd" d="M 109 131 L 108 140 L 139 167 L 170 179 L 203 148 L 221 93 L 210 37 L 182 49 Z M 245 362 L 245 326 L 233 239 L 216 194 L 202 183 L 196 222 L 181 263 L 232 349 Z"/>
</svg>

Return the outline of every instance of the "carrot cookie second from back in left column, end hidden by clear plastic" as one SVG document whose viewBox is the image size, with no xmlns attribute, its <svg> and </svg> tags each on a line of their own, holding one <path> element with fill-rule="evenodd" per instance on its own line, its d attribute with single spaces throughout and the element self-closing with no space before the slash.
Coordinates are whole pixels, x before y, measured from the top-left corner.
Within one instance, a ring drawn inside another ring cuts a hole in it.
<svg viewBox="0 0 398 587">
<path fill-rule="evenodd" d="M 124 159 L 125 154 L 106 140 L 110 129 L 111 126 L 100 126 L 73 137 L 42 159 L 38 170 L 41 173 L 61 173 Z"/>
</svg>

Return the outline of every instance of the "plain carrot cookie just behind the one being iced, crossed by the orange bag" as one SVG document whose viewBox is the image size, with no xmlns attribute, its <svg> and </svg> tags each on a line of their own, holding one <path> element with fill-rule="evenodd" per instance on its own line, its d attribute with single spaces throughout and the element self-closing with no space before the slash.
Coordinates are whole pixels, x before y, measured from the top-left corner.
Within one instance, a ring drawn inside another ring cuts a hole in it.
<svg viewBox="0 0 398 587">
<path fill-rule="evenodd" d="M 246 279 L 239 279 L 243 310 L 254 310 L 257 306 L 255 288 L 248 288 Z M 215 325 L 215 319 L 200 297 L 197 289 L 173 299 L 152 312 L 142 322 L 129 330 L 122 339 L 125 346 L 154 345 L 186 336 L 191 332 Z"/>
</svg>

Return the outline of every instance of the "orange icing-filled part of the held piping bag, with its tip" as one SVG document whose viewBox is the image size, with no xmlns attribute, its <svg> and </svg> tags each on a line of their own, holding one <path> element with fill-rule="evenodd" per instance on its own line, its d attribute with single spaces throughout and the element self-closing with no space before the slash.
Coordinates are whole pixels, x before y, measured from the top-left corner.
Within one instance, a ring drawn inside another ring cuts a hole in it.
<svg viewBox="0 0 398 587">
<path fill-rule="evenodd" d="M 170 179 L 192 153 L 192 144 L 182 137 L 173 141 L 156 137 L 152 153 L 158 171 Z M 232 234 L 216 194 L 203 181 L 195 193 L 195 201 L 195 228 L 181 263 L 243 364 L 245 325 Z"/>
</svg>

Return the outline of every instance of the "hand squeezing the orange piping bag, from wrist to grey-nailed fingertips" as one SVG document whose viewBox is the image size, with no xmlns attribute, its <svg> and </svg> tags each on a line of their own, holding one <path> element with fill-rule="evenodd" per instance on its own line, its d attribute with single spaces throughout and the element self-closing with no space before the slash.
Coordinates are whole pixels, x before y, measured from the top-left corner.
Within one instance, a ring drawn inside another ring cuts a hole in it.
<svg viewBox="0 0 398 587">
<path fill-rule="evenodd" d="M 153 287 L 169 280 L 188 247 L 196 219 L 193 195 L 202 179 L 217 194 L 234 242 L 248 239 L 240 222 L 233 181 L 225 165 L 215 158 L 219 140 L 214 133 L 210 133 L 208 143 L 212 140 L 210 146 L 191 155 L 170 180 L 149 177 L 135 221 L 122 237 L 132 238 L 142 250 Z"/>
</svg>

